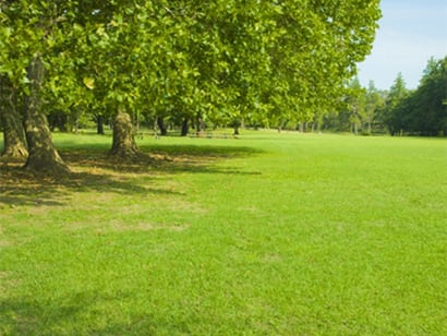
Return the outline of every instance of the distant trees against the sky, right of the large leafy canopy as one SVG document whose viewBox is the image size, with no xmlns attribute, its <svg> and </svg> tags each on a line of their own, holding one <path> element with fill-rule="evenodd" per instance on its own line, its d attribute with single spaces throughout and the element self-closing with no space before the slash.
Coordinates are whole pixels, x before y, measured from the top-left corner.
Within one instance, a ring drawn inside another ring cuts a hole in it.
<svg viewBox="0 0 447 336">
<path fill-rule="evenodd" d="M 374 82 L 362 87 L 354 77 L 346 107 L 323 118 L 322 128 L 364 134 L 447 136 L 447 57 L 432 58 L 416 89 L 408 89 L 401 74 L 389 91 Z"/>
</svg>

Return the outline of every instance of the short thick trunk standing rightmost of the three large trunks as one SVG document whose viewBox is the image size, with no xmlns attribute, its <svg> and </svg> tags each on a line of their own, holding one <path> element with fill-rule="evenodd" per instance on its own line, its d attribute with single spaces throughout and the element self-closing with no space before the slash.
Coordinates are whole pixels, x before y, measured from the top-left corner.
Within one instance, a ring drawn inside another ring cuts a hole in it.
<svg viewBox="0 0 447 336">
<path fill-rule="evenodd" d="M 134 137 L 131 116 L 118 111 L 113 120 L 113 144 L 110 155 L 121 159 L 131 159 L 137 154 L 138 147 Z"/>
</svg>

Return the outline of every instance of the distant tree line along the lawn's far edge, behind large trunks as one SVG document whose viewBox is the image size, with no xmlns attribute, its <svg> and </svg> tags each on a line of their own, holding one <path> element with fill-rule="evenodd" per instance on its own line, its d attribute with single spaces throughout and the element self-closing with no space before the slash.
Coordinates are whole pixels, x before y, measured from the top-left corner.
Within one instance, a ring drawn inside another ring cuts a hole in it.
<svg viewBox="0 0 447 336">
<path fill-rule="evenodd" d="M 179 118 L 176 113 L 142 112 L 134 118 L 135 128 L 141 125 L 154 129 L 160 135 L 174 131 L 185 135 L 190 129 L 201 131 L 217 127 L 230 127 L 234 132 L 244 128 L 277 128 L 279 131 L 298 130 L 302 132 L 333 131 L 353 134 L 391 134 L 447 136 L 447 58 L 431 59 L 423 72 L 416 89 L 408 89 L 404 79 L 399 73 L 394 85 L 386 91 L 378 89 L 373 81 L 362 87 L 358 77 L 353 77 L 340 91 L 334 104 L 334 110 L 322 112 L 316 109 L 311 119 L 297 118 L 243 119 L 243 117 L 213 120 L 206 116 Z M 289 116 L 290 117 L 290 116 Z M 63 111 L 52 111 L 48 116 L 51 130 L 75 131 L 78 127 L 96 128 L 104 134 L 104 125 L 111 125 L 112 120 L 101 115 L 74 116 Z"/>
</svg>

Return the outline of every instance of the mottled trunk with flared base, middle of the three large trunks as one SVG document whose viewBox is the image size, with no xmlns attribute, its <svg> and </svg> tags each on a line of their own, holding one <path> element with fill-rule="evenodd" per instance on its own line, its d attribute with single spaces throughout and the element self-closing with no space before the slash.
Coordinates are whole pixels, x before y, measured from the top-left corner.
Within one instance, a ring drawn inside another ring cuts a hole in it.
<svg viewBox="0 0 447 336">
<path fill-rule="evenodd" d="M 28 68 L 31 92 L 25 108 L 25 133 L 29 156 L 25 168 L 39 173 L 62 175 L 69 172 L 52 143 L 47 117 L 40 108 L 40 89 L 44 80 L 44 63 L 39 57 Z"/>
</svg>

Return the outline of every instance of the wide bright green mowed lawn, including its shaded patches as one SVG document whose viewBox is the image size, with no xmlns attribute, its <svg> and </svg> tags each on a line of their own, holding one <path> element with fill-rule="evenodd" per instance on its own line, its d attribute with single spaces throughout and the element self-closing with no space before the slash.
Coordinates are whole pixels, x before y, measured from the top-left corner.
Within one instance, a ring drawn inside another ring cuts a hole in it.
<svg viewBox="0 0 447 336">
<path fill-rule="evenodd" d="M 56 135 L 3 161 L 0 334 L 447 335 L 447 142 Z"/>
</svg>

